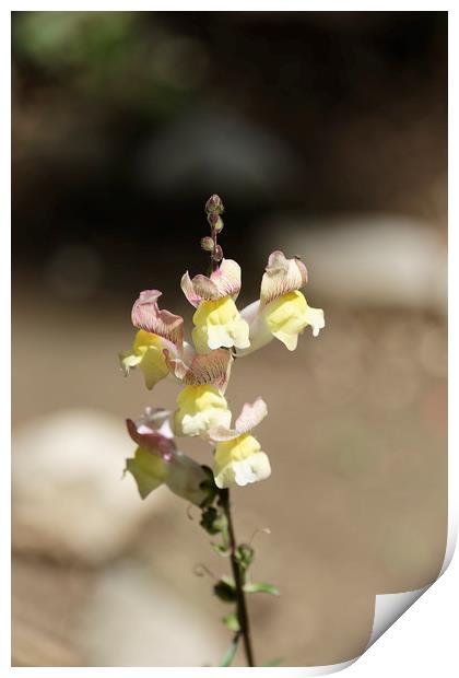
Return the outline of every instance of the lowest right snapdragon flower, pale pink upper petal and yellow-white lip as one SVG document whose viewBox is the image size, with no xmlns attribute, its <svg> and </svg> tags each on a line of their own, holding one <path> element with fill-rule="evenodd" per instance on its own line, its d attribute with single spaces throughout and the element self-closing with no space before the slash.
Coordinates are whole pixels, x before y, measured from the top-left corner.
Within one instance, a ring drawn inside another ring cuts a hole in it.
<svg viewBox="0 0 459 678">
<path fill-rule="evenodd" d="M 267 414 L 264 400 L 257 398 L 252 405 L 246 402 L 234 429 L 219 425 L 209 431 L 210 442 L 216 445 L 213 474 L 217 488 L 245 486 L 269 478 L 271 465 L 268 455 L 250 433 Z"/>
</svg>

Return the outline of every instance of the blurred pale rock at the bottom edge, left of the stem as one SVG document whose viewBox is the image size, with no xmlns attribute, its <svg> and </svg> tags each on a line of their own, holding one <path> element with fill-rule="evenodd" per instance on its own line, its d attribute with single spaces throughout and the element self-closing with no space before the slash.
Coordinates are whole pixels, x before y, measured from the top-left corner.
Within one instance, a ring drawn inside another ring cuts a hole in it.
<svg viewBox="0 0 459 678">
<path fill-rule="evenodd" d="M 80 638 L 91 666 L 215 666 L 227 631 L 196 592 L 187 598 L 152 569 L 125 561 L 103 571 Z"/>
</svg>

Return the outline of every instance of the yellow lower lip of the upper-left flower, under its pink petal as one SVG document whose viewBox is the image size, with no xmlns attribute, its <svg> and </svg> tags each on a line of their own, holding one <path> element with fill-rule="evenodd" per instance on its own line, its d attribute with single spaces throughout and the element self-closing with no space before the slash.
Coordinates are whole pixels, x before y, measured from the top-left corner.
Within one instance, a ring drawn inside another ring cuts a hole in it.
<svg viewBox="0 0 459 678">
<path fill-rule="evenodd" d="M 164 339 L 140 329 L 129 351 L 119 354 L 121 370 L 127 375 L 132 367 L 140 367 L 145 377 L 146 388 L 153 388 L 169 373 L 164 354 Z"/>
</svg>

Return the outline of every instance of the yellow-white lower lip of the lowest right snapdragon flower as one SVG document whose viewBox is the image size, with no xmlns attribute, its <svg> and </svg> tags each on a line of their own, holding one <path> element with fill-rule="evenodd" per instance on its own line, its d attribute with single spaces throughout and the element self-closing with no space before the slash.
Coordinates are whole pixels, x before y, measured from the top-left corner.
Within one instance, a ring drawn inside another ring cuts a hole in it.
<svg viewBox="0 0 459 678">
<path fill-rule="evenodd" d="M 213 474 L 217 488 L 245 486 L 268 478 L 271 466 L 257 439 L 245 433 L 217 443 Z"/>
</svg>

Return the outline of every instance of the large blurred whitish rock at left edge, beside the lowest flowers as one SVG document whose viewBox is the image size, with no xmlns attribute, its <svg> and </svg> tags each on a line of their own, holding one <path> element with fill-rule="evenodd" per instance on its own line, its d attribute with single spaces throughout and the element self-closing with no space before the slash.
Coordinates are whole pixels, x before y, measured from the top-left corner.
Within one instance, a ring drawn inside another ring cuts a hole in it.
<svg viewBox="0 0 459 678">
<path fill-rule="evenodd" d="M 97 563 L 121 551 L 148 515 L 169 498 L 160 488 L 141 501 L 125 459 L 132 455 L 122 420 L 70 409 L 13 432 L 13 521 L 19 546 Z"/>
</svg>

